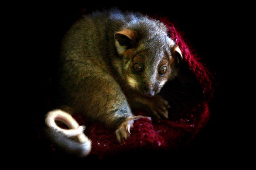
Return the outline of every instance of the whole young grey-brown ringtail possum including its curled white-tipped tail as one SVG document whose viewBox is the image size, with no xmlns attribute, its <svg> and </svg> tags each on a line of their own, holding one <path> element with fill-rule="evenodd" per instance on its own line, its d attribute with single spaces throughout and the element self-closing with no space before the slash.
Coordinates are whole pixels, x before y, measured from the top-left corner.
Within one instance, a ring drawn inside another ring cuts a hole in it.
<svg viewBox="0 0 256 170">
<path fill-rule="evenodd" d="M 47 135 L 65 152 L 85 157 L 91 140 L 72 114 L 82 113 L 113 129 L 118 142 L 128 140 L 139 118 L 167 119 L 170 106 L 158 93 L 178 75 L 181 60 L 179 47 L 161 21 L 116 8 L 84 15 L 63 37 L 62 107 L 47 113 Z M 133 115 L 137 108 L 149 117 Z"/>
</svg>

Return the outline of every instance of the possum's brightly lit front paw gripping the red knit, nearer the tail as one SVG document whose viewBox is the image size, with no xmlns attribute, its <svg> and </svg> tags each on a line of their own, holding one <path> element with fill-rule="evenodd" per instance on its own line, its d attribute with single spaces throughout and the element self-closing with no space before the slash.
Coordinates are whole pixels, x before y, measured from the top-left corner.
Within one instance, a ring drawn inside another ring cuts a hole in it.
<svg viewBox="0 0 256 170">
<path fill-rule="evenodd" d="M 133 122 L 139 118 L 146 118 L 151 120 L 151 117 L 145 117 L 141 115 L 126 119 L 126 121 L 124 121 L 115 131 L 115 135 L 117 136 L 118 142 L 121 142 L 122 138 L 128 139 L 130 137 L 130 128 L 133 127 Z"/>
</svg>

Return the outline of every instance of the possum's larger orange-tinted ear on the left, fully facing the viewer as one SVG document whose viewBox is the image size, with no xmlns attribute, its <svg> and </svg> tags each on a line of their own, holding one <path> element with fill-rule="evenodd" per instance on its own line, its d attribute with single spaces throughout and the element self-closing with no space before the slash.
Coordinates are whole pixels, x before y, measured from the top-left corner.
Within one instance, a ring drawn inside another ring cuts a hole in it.
<svg viewBox="0 0 256 170">
<path fill-rule="evenodd" d="M 114 34 L 115 46 L 120 54 L 126 49 L 134 47 L 136 44 L 137 34 L 134 30 L 121 30 Z"/>
</svg>

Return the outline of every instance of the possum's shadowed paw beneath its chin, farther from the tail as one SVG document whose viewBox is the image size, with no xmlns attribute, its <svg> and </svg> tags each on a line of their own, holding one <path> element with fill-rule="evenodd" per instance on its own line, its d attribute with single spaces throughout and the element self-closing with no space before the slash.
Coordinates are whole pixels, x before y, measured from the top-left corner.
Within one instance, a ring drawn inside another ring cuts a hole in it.
<svg viewBox="0 0 256 170">
<path fill-rule="evenodd" d="M 148 107 L 154 117 L 161 119 L 161 117 L 168 118 L 169 103 L 163 99 L 160 95 L 156 95 L 152 98 L 148 98 Z"/>
</svg>

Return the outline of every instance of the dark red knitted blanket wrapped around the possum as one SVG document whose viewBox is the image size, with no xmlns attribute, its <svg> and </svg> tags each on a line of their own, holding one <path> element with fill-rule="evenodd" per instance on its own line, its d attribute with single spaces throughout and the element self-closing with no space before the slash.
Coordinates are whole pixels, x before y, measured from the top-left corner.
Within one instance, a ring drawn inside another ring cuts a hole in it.
<svg viewBox="0 0 256 170">
<path fill-rule="evenodd" d="M 175 119 L 148 120 L 138 119 L 131 130 L 128 140 L 117 142 L 113 130 L 108 130 L 100 123 L 89 123 L 79 115 L 74 116 L 80 125 L 86 125 L 85 134 L 92 141 L 91 153 L 88 157 L 103 159 L 111 155 L 140 150 L 168 151 L 184 147 L 193 140 L 195 135 L 208 123 L 210 112 L 208 102 L 213 96 L 213 77 L 207 68 L 200 63 L 197 56 L 191 53 L 189 47 L 167 18 L 158 18 L 166 23 L 170 37 L 176 41 L 183 55 L 183 62 L 195 76 L 201 87 L 202 97 L 187 108 L 180 109 Z M 143 110 L 137 110 L 135 115 L 147 115 Z M 171 113 L 169 113 L 171 114 Z M 54 151 L 54 146 L 50 148 Z"/>
</svg>

